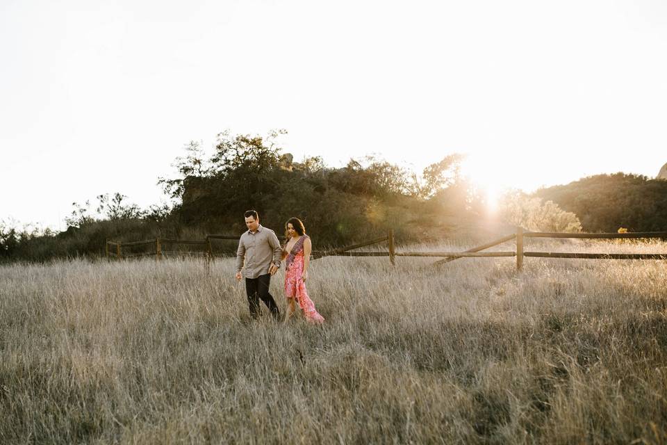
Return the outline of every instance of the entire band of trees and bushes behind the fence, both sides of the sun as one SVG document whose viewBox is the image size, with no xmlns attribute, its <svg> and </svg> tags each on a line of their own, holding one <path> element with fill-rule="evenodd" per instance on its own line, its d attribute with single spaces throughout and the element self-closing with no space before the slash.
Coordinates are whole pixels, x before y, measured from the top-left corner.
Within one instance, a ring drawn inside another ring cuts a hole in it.
<svg viewBox="0 0 667 445">
<path fill-rule="evenodd" d="M 120 193 L 98 195 L 97 207 L 73 204 L 70 227 L 60 234 L 0 222 L 0 259 L 101 254 L 106 239 L 240 234 L 248 209 L 279 234 L 288 218 L 301 218 L 320 248 L 389 228 L 404 243 L 441 240 L 457 223 L 469 229 L 488 216 L 485 198 L 459 173 L 461 154 L 447 154 L 421 173 L 374 156 L 331 168 L 317 156 L 293 159 L 280 144 L 285 133 L 222 131 L 212 150 L 191 141 L 174 161 L 175 175 L 158 179 L 172 204 L 140 209 Z M 496 216 L 542 231 L 667 231 L 667 181 L 622 173 L 588 177 L 532 195 L 509 194 Z"/>
</svg>

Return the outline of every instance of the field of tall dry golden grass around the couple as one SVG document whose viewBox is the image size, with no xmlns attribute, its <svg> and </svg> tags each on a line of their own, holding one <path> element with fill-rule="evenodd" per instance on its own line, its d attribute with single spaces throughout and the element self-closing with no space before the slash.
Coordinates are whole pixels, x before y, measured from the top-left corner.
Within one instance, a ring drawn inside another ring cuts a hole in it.
<svg viewBox="0 0 667 445">
<path fill-rule="evenodd" d="M 322 327 L 230 259 L 0 266 L 0 443 L 667 442 L 666 261 L 432 261 L 314 261 Z"/>
</svg>

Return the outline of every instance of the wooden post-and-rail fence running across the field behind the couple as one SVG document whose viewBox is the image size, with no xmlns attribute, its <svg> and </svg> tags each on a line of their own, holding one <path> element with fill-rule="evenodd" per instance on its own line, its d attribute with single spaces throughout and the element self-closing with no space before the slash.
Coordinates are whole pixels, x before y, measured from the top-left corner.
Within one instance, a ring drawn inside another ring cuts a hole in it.
<svg viewBox="0 0 667 445">
<path fill-rule="evenodd" d="M 375 238 L 363 243 L 347 245 L 343 248 L 334 250 L 313 251 L 313 260 L 324 257 L 389 257 L 390 264 L 396 263 L 396 257 L 439 257 L 444 258 L 436 261 L 433 265 L 445 264 L 459 258 L 497 258 L 497 257 L 516 257 L 516 268 L 521 270 L 525 257 L 538 258 L 574 258 L 574 259 L 667 259 L 667 253 L 654 254 L 618 254 L 618 253 L 568 253 L 568 252 L 526 252 L 524 250 L 525 238 L 580 238 L 580 239 L 638 239 L 638 238 L 667 238 L 667 232 L 635 232 L 635 233 L 558 233 L 558 232 L 524 232 L 521 227 L 517 228 L 516 234 L 510 234 L 490 241 L 486 244 L 478 245 L 463 252 L 397 252 L 395 250 L 395 240 L 393 230 L 389 230 L 387 236 Z M 116 241 L 106 242 L 106 257 L 108 259 L 115 257 L 117 259 L 155 256 L 160 260 L 166 251 L 162 249 L 167 244 L 183 245 L 201 245 L 206 251 L 197 252 L 211 261 L 214 257 L 212 239 L 222 239 L 238 241 L 239 236 L 234 235 L 207 235 L 204 241 L 178 240 L 171 238 L 156 238 L 149 241 L 133 241 L 130 243 L 120 243 Z M 481 252 L 507 241 L 516 240 L 516 250 L 504 252 Z M 369 245 L 387 243 L 386 251 L 354 251 Z M 123 254 L 122 248 L 128 248 L 138 245 L 154 245 L 154 252 L 144 252 L 140 254 Z M 354 252 L 353 252 L 354 251 Z M 170 252 L 170 254 L 185 254 L 187 252 Z"/>
</svg>

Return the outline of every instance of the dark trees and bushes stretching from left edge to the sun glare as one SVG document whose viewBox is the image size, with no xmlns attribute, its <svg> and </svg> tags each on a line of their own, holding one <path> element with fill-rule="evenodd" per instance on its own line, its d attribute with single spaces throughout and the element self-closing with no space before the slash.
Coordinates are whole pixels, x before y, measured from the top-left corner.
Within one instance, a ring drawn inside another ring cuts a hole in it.
<svg viewBox="0 0 667 445">
<path fill-rule="evenodd" d="M 372 156 L 328 168 L 318 157 L 293 162 L 291 155 L 281 156 L 277 140 L 284 133 L 262 137 L 224 131 L 211 156 L 192 141 L 186 156 L 176 158 L 176 177 L 158 180 L 177 202 L 174 207 L 145 210 L 120 193 L 98 195 L 97 208 L 90 202 L 73 204 L 66 219 L 70 227 L 58 236 L 0 227 L 0 260 L 97 257 L 107 239 L 238 235 L 245 231 L 242 214 L 249 209 L 279 236 L 288 218 L 301 218 L 316 249 L 383 236 L 388 229 L 400 242 L 443 238 L 444 216 L 469 220 L 471 209 L 474 213 L 470 185 L 459 179 L 459 154 L 429 165 L 422 179 Z M 233 253 L 227 244 L 216 248 Z"/>
</svg>

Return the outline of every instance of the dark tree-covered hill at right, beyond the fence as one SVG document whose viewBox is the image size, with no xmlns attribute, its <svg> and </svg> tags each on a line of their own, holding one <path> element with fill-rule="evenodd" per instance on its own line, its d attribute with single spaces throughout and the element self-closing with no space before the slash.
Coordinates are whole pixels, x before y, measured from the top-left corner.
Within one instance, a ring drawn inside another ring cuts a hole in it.
<svg viewBox="0 0 667 445">
<path fill-rule="evenodd" d="M 595 175 L 536 191 L 575 213 L 586 232 L 667 231 L 667 181 L 641 175 Z"/>
</svg>

